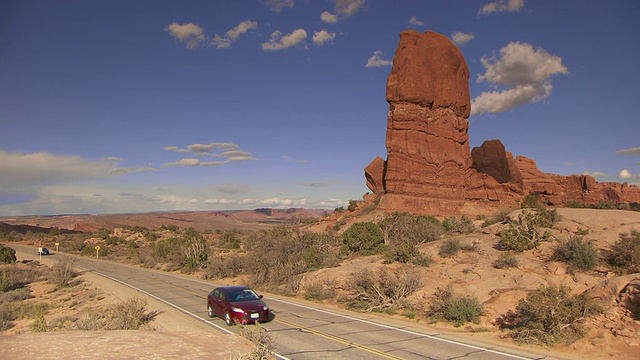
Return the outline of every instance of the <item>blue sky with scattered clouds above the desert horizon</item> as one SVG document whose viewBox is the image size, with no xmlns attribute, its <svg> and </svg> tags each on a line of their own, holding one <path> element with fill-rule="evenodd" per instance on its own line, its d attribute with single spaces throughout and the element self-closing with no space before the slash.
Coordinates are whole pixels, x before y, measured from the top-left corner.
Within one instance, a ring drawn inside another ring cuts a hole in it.
<svg viewBox="0 0 640 360">
<path fill-rule="evenodd" d="M 470 69 L 471 147 L 640 183 L 640 2 L 0 2 L 0 215 L 327 208 L 386 158 L 406 29 Z"/>
</svg>

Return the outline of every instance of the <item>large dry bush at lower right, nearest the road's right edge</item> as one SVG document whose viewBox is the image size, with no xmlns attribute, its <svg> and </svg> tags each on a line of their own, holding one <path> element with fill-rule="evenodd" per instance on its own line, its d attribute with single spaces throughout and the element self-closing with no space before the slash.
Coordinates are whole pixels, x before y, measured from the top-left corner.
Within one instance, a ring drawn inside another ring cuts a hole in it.
<svg viewBox="0 0 640 360">
<path fill-rule="evenodd" d="M 516 341 L 554 345 L 573 342 L 585 334 L 586 318 L 601 309 L 587 293 L 571 296 L 565 286 L 540 287 L 520 300 L 515 311 L 499 317 L 497 325 L 509 329 Z"/>
</svg>

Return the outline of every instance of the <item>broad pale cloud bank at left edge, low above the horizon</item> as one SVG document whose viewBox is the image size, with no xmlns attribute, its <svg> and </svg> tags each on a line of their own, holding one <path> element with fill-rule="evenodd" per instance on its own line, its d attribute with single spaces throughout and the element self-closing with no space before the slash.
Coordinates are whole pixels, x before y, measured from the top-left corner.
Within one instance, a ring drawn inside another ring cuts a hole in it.
<svg viewBox="0 0 640 360">
<path fill-rule="evenodd" d="M 153 168 L 117 168 L 114 160 L 87 160 L 80 156 L 0 151 L 0 190 L 4 193 L 33 193 L 57 183 L 107 179 Z"/>
</svg>

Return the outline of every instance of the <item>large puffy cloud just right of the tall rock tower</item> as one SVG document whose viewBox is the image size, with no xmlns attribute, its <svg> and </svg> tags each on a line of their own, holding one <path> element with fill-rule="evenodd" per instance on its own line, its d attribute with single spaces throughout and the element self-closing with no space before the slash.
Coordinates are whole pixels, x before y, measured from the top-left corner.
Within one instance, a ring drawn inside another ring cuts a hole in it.
<svg viewBox="0 0 640 360">
<path fill-rule="evenodd" d="M 500 49 L 500 58 L 482 58 L 487 69 L 477 82 L 506 86 L 507 90 L 483 92 L 471 102 L 471 114 L 501 112 L 546 99 L 551 76 L 567 74 L 562 58 L 527 43 L 511 42 Z"/>
</svg>

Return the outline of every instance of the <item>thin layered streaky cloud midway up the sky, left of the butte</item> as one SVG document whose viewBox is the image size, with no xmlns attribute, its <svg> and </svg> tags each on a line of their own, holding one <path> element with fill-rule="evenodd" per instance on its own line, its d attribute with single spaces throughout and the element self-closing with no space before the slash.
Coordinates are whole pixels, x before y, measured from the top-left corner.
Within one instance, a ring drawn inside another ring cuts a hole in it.
<svg viewBox="0 0 640 360">
<path fill-rule="evenodd" d="M 256 160 L 253 155 L 240 149 L 238 145 L 228 142 L 212 142 L 209 144 L 191 144 L 186 149 L 177 146 L 165 146 L 165 151 L 177 152 L 181 154 L 193 154 L 201 157 L 224 158 L 220 161 L 202 161 L 198 158 L 184 158 L 178 161 L 162 164 L 163 167 L 168 166 L 218 166 L 233 161 Z M 223 151 L 219 151 L 223 150 Z"/>
</svg>

